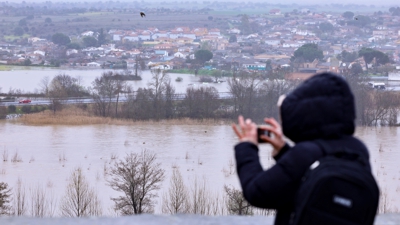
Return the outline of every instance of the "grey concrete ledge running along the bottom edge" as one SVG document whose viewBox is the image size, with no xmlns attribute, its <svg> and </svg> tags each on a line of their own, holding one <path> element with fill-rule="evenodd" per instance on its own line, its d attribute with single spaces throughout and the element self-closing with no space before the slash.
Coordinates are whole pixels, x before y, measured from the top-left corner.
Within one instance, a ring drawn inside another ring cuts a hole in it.
<svg viewBox="0 0 400 225">
<path fill-rule="evenodd" d="M 140 215 L 103 218 L 0 218 L 2 225 L 273 225 L 274 217 L 265 216 L 201 216 Z M 400 214 L 378 215 L 375 225 L 398 225 Z"/>
</svg>

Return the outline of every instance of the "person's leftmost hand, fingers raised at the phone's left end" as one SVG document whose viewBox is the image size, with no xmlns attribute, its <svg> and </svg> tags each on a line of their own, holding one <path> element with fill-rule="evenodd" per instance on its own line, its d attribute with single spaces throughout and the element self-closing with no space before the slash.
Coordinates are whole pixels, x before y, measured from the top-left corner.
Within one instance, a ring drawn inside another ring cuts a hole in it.
<svg viewBox="0 0 400 225">
<path fill-rule="evenodd" d="M 232 128 L 235 131 L 241 142 L 248 141 L 255 145 L 258 144 L 257 141 L 257 125 L 251 121 L 251 119 L 244 120 L 243 116 L 238 117 L 239 128 L 236 124 L 232 124 Z"/>
</svg>

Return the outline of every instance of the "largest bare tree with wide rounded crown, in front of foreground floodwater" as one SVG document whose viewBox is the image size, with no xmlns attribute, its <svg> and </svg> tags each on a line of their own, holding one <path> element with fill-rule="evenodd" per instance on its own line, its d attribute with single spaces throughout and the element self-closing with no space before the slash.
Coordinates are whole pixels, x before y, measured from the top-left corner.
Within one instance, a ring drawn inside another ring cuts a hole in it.
<svg viewBox="0 0 400 225">
<path fill-rule="evenodd" d="M 115 210 L 122 215 L 153 212 L 154 200 L 164 180 L 164 170 L 156 162 L 156 155 L 147 150 L 142 153 L 129 153 L 124 159 L 115 162 L 110 171 L 108 185 L 122 192 L 112 198 Z"/>
</svg>

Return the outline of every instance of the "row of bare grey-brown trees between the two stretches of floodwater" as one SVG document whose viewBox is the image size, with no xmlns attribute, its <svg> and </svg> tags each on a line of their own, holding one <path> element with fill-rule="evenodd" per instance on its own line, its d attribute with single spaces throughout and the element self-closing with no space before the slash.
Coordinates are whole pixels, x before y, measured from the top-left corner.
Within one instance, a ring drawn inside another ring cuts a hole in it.
<svg viewBox="0 0 400 225">
<path fill-rule="evenodd" d="M 345 53 L 343 56 L 351 57 L 351 53 Z M 152 78 L 147 87 L 134 90 L 125 79 L 120 79 L 125 74 L 129 73 L 104 72 L 87 88 L 81 85 L 79 78 L 59 74 L 53 79 L 43 78 L 40 89 L 42 95 L 50 100 L 49 108 L 54 113 L 62 110 L 68 98 L 86 97 L 92 98 L 93 104 L 78 105 L 101 117 L 129 120 L 235 120 L 238 115 L 244 115 L 262 122 L 267 116 L 279 118 L 276 106 L 279 96 L 287 94 L 301 82 L 278 79 L 272 75 L 235 72 L 232 77 L 227 77 L 228 95 L 225 93 L 225 96 L 222 96 L 214 87 L 188 87 L 184 93 L 176 93 L 167 72 L 159 69 L 151 70 Z M 399 124 L 398 92 L 372 89 L 367 85 L 368 76 L 364 74 L 347 73 L 343 77 L 349 82 L 356 99 L 357 125 Z M 177 99 L 177 95 L 180 98 Z M 121 98 L 124 101 L 121 101 Z M 24 112 L 30 111 L 24 109 Z M 40 110 L 32 112 L 35 111 Z M 0 109 L 0 114 L 5 117 L 7 110 Z"/>
</svg>

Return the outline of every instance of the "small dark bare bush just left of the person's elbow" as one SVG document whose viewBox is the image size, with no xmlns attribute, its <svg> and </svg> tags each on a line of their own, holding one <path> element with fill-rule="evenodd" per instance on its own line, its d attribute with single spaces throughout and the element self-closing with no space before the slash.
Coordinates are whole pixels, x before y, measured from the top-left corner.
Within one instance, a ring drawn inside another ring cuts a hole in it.
<svg viewBox="0 0 400 225">
<path fill-rule="evenodd" d="M 224 186 L 224 190 L 227 196 L 226 206 L 229 214 L 253 215 L 251 205 L 246 201 L 240 190 L 226 185 Z"/>
</svg>

